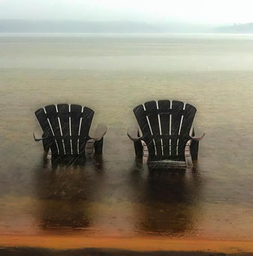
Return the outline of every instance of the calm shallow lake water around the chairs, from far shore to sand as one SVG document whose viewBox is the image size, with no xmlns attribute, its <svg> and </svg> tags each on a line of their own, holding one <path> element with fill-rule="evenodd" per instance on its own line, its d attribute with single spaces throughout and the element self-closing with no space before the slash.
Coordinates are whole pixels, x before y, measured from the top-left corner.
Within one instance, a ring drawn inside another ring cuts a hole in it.
<svg viewBox="0 0 253 256">
<path fill-rule="evenodd" d="M 253 237 L 252 36 L 1 35 L 0 88 L 0 234 Z M 194 170 L 135 161 L 132 109 L 153 99 L 196 106 Z M 34 112 L 65 102 L 108 125 L 104 154 L 52 169 Z"/>
</svg>

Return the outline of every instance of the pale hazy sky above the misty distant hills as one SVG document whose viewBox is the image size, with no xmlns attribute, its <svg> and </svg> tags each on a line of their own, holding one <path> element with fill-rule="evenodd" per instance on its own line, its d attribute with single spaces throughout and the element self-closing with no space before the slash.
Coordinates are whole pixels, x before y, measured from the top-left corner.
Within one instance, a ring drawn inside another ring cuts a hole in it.
<svg viewBox="0 0 253 256">
<path fill-rule="evenodd" d="M 0 0 L 0 19 L 253 22 L 253 0 Z"/>
</svg>

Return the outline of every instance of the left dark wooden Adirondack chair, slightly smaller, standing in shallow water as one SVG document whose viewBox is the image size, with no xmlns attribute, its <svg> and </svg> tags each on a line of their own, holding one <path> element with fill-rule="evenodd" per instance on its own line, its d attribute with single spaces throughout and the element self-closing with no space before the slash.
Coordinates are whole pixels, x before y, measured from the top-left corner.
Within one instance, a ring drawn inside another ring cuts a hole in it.
<svg viewBox="0 0 253 256">
<path fill-rule="evenodd" d="M 35 115 L 42 128 L 35 128 L 35 141 L 42 141 L 44 152 L 52 158 L 85 159 L 85 154 L 102 154 L 106 126 L 99 124 L 89 135 L 94 111 L 79 105 L 58 104 L 40 108 Z"/>
</svg>

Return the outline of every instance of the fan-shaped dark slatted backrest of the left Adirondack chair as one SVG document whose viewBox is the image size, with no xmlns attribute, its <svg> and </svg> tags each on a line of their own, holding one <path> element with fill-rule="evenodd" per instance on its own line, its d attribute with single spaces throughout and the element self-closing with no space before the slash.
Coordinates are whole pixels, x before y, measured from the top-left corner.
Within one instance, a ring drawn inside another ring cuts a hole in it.
<svg viewBox="0 0 253 256">
<path fill-rule="evenodd" d="M 45 106 L 35 112 L 52 155 L 85 154 L 94 111 L 79 105 Z"/>
</svg>

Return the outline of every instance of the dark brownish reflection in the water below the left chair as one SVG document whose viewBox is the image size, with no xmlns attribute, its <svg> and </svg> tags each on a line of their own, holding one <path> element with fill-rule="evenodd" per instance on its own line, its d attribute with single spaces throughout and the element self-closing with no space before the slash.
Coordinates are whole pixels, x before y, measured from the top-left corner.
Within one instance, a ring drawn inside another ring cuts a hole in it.
<svg viewBox="0 0 253 256">
<path fill-rule="evenodd" d="M 90 232 L 94 225 L 94 203 L 104 191 L 104 163 L 101 155 L 94 161 L 50 164 L 42 157 L 36 173 L 35 218 L 42 232 Z"/>
</svg>

